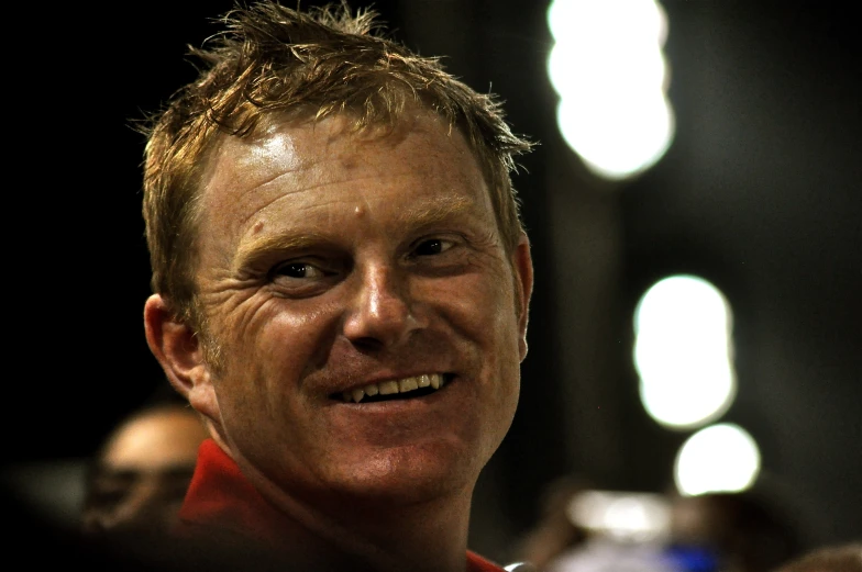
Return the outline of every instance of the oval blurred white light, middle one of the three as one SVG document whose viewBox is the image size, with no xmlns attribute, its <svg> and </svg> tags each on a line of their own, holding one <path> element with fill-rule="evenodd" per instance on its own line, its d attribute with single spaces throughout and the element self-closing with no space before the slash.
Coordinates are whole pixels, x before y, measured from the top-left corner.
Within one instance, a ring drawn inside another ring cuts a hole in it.
<svg viewBox="0 0 862 572">
<path fill-rule="evenodd" d="M 694 276 L 662 279 L 633 322 L 641 402 L 653 419 L 687 429 L 727 412 L 737 392 L 732 314 L 715 285 Z"/>
</svg>

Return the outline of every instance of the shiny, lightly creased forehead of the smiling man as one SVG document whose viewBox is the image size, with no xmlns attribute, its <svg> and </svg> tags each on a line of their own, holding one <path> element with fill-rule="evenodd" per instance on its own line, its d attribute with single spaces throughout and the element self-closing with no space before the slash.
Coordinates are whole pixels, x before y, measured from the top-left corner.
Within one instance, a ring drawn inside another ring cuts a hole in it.
<svg viewBox="0 0 862 572">
<path fill-rule="evenodd" d="M 222 231 L 242 233 L 237 225 L 288 214 L 287 205 L 299 212 L 353 200 L 467 199 L 490 214 L 474 153 L 438 115 L 416 111 L 391 130 L 351 127 L 352 117 L 336 115 L 317 123 L 273 124 L 250 141 L 226 138 L 210 158 L 203 179 L 205 220 Z"/>
</svg>

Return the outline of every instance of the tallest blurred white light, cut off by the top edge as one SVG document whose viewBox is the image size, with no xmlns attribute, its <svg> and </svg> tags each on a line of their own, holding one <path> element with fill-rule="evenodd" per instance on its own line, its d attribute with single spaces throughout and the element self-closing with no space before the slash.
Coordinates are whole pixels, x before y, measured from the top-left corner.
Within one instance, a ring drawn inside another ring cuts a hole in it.
<svg viewBox="0 0 862 572">
<path fill-rule="evenodd" d="M 652 167 L 675 131 L 662 46 L 667 19 L 655 0 L 554 0 L 548 58 L 557 124 L 584 164 L 608 179 Z"/>
</svg>

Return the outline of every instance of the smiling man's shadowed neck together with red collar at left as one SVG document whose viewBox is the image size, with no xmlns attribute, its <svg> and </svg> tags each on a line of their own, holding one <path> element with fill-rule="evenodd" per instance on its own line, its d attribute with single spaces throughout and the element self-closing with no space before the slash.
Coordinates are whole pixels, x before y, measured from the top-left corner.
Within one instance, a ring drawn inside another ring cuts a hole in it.
<svg viewBox="0 0 862 572">
<path fill-rule="evenodd" d="M 217 551 L 236 541 L 250 550 L 262 546 L 278 562 L 286 557 L 289 569 L 309 572 L 466 568 L 475 483 L 469 475 L 436 481 L 435 487 L 379 486 L 369 497 L 367 489 L 280 486 L 209 441 L 198 464 L 180 518 L 192 537 L 214 540 Z M 213 539 L 219 534 L 229 538 Z"/>
</svg>

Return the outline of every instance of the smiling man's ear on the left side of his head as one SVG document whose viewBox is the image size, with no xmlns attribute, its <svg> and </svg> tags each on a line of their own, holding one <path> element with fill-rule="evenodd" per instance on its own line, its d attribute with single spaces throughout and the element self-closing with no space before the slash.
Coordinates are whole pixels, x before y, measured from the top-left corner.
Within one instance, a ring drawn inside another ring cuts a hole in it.
<svg viewBox="0 0 862 572">
<path fill-rule="evenodd" d="M 195 330 L 180 321 L 159 294 L 144 304 L 146 343 L 168 381 L 189 404 L 219 425 L 219 403 L 203 348 Z"/>
</svg>

